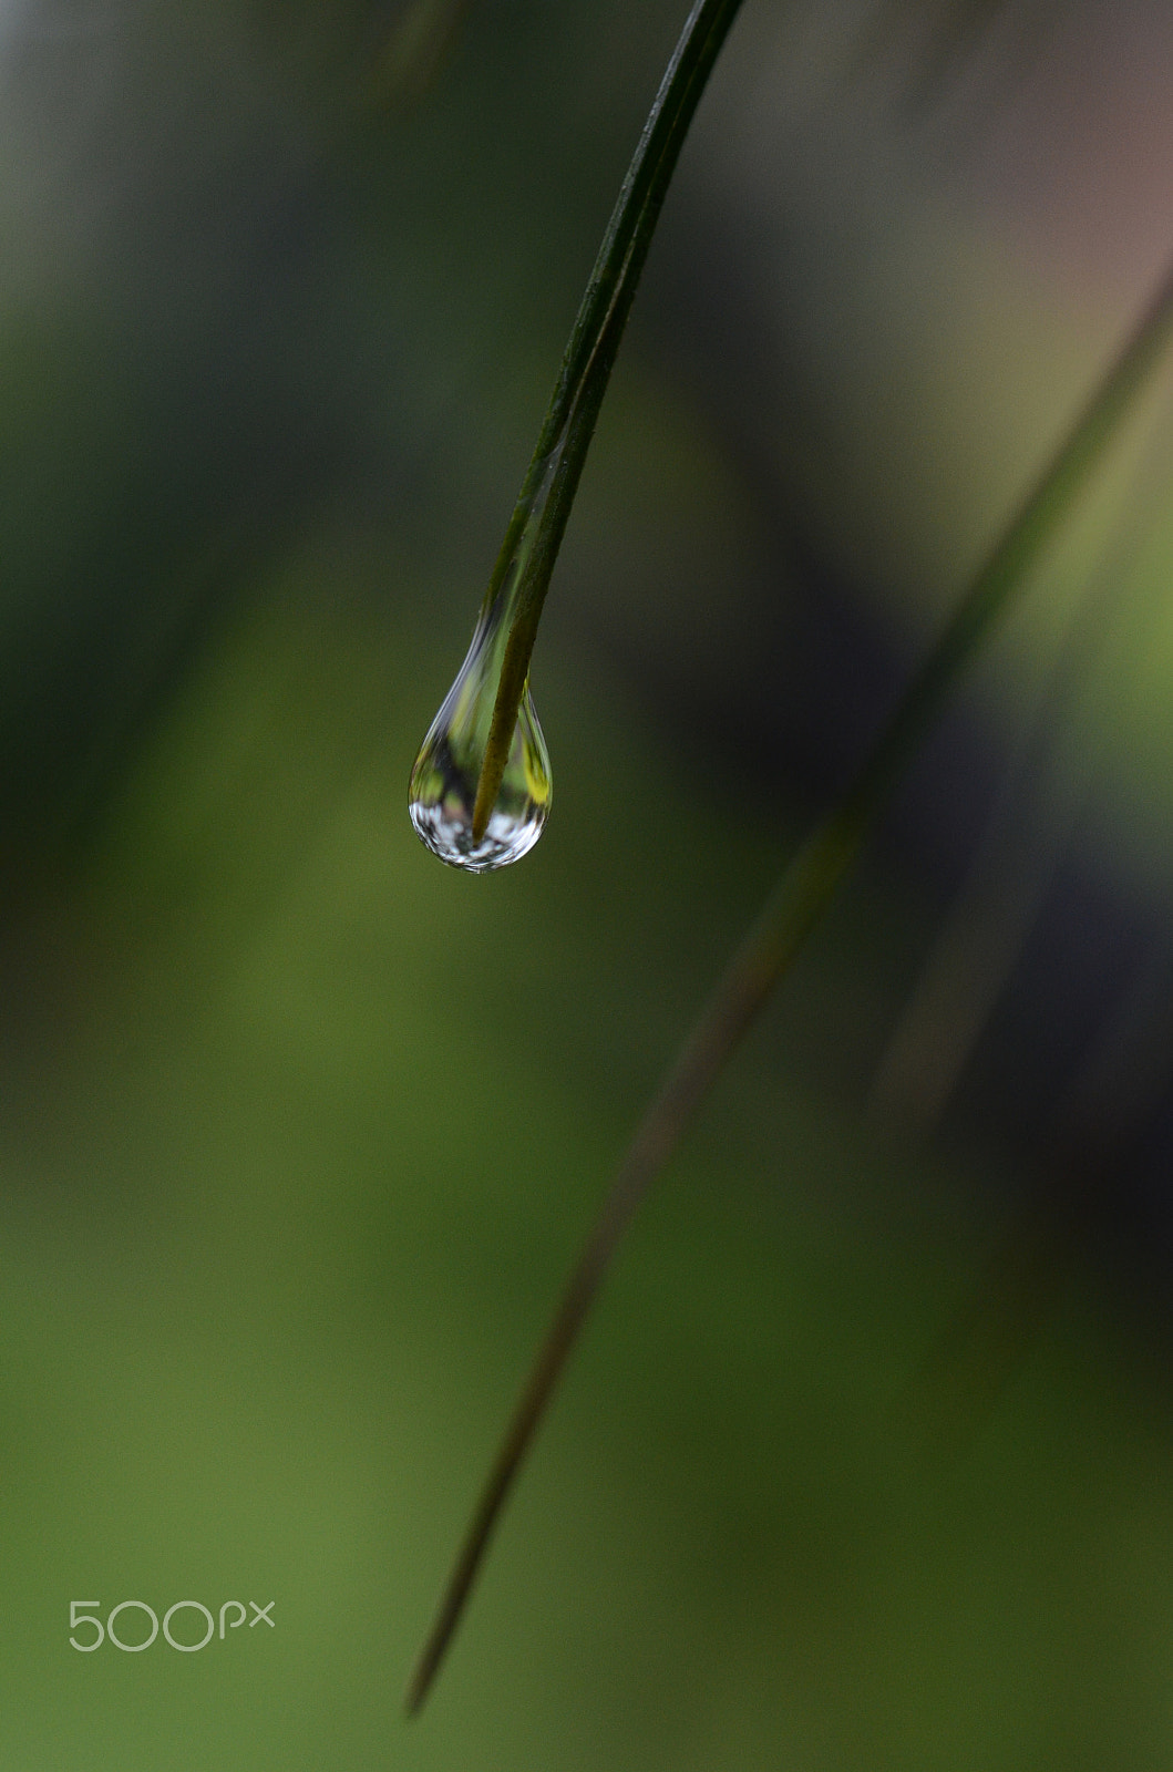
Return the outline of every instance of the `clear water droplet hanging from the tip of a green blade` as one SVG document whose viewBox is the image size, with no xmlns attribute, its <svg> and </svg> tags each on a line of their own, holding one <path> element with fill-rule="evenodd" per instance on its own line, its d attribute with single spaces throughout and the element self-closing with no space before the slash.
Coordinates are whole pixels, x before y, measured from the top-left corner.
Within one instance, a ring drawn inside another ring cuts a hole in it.
<svg viewBox="0 0 1173 1772">
<path fill-rule="evenodd" d="M 498 599 L 477 622 L 468 657 L 427 728 L 408 790 L 420 842 L 448 867 L 470 874 L 489 874 L 524 856 L 549 812 L 549 753 L 526 684 L 500 792 L 486 829 L 473 831 L 507 636 L 505 599 Z"/>
</svg>

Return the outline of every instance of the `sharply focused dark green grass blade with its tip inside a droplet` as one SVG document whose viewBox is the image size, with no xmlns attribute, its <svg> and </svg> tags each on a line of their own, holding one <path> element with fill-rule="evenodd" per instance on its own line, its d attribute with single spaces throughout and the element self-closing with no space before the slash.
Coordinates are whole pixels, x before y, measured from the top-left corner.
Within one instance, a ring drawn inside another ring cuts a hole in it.
<svg viewBox="0 0 1173 1772">
<path fill-rule="evenodd" d="M 486 608 L 510 578 L 517 579 L 514 618 L 486 744 L 473 836 L 480 840 L 501 789 L 517 709 L 530 673 L 530 656 L 546 590 L 594 436 L 640 271 L 647 259 L 664 193 L 675 172 L 693 112 L 712 73 L 741 0 L 696 0 L 643 126 L 618 193 L 595 268 L 590 273 L 558 381 L 517 505 L 486 592 Z"/>
</svg>

